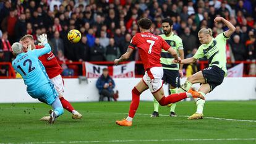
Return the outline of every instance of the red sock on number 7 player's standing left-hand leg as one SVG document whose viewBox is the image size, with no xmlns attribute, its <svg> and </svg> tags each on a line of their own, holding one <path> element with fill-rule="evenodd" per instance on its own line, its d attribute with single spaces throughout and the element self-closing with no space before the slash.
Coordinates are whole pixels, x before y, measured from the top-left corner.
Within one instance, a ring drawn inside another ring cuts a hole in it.
<svg viewBox="0 0 256 144">
<path fill-rule="evenodd" d="M 132 89 L 132 102 L 130 103 L 129 117 L 134 117 L 140 104 L 140 92 L 137 88 Z"/>
</svg>

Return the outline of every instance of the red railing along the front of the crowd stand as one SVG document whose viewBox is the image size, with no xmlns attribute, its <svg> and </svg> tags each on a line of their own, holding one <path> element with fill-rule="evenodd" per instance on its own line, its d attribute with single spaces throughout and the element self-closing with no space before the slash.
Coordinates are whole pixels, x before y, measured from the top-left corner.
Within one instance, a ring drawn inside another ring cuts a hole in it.
<svg viewBox="0 0 256 144">
<path fill-rule="evenodd" d="M 99 62 L 90 62 L 92 64 L 98 64 L 98 65 L 106 65 L 106 66 L 113 66 L 114 62 L 107 62 L 107 61 L 99 61 Z M 121 62 L 121 64 L 126 64 L 127 62 Z M 244 75 L 243 77 L 256 77 L 256 75 L 248 75 L 246 73 L 246 70 L 248 70 L 248 67 L 250 64 L 256 64 L 256 61 L 235 61 L 235 62 L 227 62 L 227 64 L 241 64 L 244 63 L 245 67 L 244 67 Z M 65 64 L 67 64 L 67 66 L 80 66 L 80 70 L 82 70 L 82 72 L 80 71 L 80 73 L 85 76 L 86 74 L 86 69 L 85 69 L 85 64 L 84 62 L 66 62 Z M 208 66 L 208 61 L 198 61 L 199 64 L 199 68 L 202 70 L 205 67 Z M 247 65 L 247 66 L 246 66 Z M 11 62 L 0 62 L 0 66 L 8 66 L 8 70 L 7 70 L 7 74 L 6 76 L 0 76 L 0 78 L 15 78 L 15 71 L 12 67 Z M 142 62 L 141 61 L 135 61 L 135 67 L 136 66 L 142 66 Z M 79 75 L 74 75 L 74 76 L 66 76 L 64 78 L 77 78 L 79 77 Z M 138 74 L 138 70 L 135 69 L 135 77 L 143 77 L 142 74 Z"/>
</svg>

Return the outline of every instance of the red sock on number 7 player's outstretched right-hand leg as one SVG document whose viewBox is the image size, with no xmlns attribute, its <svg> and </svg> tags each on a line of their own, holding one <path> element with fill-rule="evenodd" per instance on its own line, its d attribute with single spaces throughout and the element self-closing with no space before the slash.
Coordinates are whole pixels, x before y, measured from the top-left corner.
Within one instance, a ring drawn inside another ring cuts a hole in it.
<svg viewBox="0 0 256 144">
<path fill-rule="evenodd" d="M 160 101 L 158 101 L 158 103 L 161 106 L 166 106 L 167 104 L 176 103 L 178 101 L 181 101 L 184 98 L 187 98 L 186 93 L 174 93 L 174 94 L 166 96 L 166 97 L 164 96 Z"/>
</svg>

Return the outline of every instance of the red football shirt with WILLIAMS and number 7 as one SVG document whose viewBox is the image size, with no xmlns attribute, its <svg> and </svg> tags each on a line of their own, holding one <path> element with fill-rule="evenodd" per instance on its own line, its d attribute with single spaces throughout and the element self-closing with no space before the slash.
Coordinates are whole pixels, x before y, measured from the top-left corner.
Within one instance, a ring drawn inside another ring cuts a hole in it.
<svg viewBox="0 0 256 144">
<path fill-rule="evenodd" d="M 134 49 L 135 46 L 139 49 L 145 70 L 151 67 L 161 67 L 161 49 L 167 51 L 171 47 L 161 36 L 153 35 L 150 32 L 137 33 L 130 41 L 128 48 Z"/>
</svg>

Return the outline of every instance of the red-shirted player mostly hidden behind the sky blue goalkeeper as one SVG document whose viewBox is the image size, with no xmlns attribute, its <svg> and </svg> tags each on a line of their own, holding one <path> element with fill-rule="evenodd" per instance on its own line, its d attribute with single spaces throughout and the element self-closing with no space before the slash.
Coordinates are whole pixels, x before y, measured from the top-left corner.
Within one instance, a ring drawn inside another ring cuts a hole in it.
<svg viewBox="0 0 256 144">
<path fill-rule="evenodd" d="M 31 49 L 40 49 L 43 46 L 38 46 L 34 44 L 33 36 L 32 35 L 25 35 L 20 39 L 20 43 L 22 43 L 23 47 L 31 46 Z M 24 48 L 27 51 L 27 48 Z M 59 63 L 52 52 L 48 54 L 44 54 L 43 56 L 39 57 L 40 61 L 42 62 L 43 66 L 45 66 L 46 73 L 48 74 L 51 82 L 54 84 L 54 88 L 59 94 L 59 100 L 61 100 L 61 104 L 64 109 L 67 111 L 72 112 L 73 119 L 82 119 L 82 114 L 72 107 L 69 101 L 64 99 L 64 81 L 61 77 L 62 68 L 59 66 Z M 42 117 L 41 121 L 48 121 L 49 116 Z"/>
</svg>

